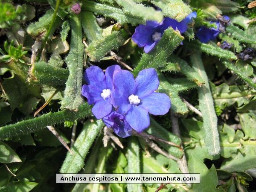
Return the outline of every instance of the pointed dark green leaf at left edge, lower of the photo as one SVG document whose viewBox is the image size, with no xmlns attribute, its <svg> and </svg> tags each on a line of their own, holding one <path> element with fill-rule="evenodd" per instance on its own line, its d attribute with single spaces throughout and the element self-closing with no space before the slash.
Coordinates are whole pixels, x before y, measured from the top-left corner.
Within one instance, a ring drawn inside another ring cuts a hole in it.
<svg viewBox="0 0 256 192">
<path fill-rule="evenodd" d="M 0 163 L 21 162 L 20 157 L 6 143 L 0 141 Z"/>
</svg>

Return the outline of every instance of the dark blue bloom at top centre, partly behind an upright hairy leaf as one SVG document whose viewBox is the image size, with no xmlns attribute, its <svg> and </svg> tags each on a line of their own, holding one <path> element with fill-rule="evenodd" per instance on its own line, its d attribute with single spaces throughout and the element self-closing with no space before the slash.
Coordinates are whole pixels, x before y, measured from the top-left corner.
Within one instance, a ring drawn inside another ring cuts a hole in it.
<svg viewBox="0 0 256 192">
<path fill-rule="evenodd" d="M 166 17 L 161 23 L 157 21 L 148 20 L 146 25 L 139 25 L 136 27 L 132 40 L 139 46 L 144 47 L 144 52 L 150 52 L 161 39 L 163 32 L 172 26 L 173 29 L 184 33 L 187 30 L 187 25 L 191 22 L 192 17 L 196 17 L 196 12 L 192 12 L 181 22 Z"/>
</svg>

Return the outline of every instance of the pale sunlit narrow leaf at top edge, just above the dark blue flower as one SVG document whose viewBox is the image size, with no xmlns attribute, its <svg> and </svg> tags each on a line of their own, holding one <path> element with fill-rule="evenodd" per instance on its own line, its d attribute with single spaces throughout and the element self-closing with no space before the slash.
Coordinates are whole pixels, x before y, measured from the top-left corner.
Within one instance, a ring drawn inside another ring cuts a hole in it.
<svg viewBox="0 0 256 192">
<path fill-rule="evenodd" d="M 122 6 L 123 11 L 129 15 L 158 22 L 163 20 L 162 12 L 156 11 L 153 7 L 145 7 L 143 4 L 134 3 L 132 0 L 116 0 L 116 3 Z"/>
</svg>

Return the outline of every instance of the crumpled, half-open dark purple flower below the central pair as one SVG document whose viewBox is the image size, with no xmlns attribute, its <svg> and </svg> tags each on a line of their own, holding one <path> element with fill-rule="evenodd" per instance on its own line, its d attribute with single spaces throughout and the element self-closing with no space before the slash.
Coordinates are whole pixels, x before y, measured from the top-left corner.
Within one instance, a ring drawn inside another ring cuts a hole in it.
<svg viewBox="0 0 256 192">
<path fill-rule="evenodd" d="M 107 127 L 111 127 L 114 133 L 119 137 L 125 138 L 131 136 L 131 126 L 126 121 L 125 116 L 113 111 L 108 116 L 103 117 L 103 122 Z"/>
</svg>

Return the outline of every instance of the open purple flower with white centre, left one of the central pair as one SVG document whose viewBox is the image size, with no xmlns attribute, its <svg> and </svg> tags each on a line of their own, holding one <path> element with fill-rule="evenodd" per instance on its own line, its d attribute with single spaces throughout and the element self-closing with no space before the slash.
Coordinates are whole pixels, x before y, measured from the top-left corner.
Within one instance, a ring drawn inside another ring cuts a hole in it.
<svg viewBox="0 0 256 192">
<path fill-rule="evenodd" d="M 118 65 L 112 65 L 103 70 L 97 66 L 91 66 L 84 72 L 84 80 L 87 83 L 82 87 L 82 95 L 87 98 L 88 104 L 94 104 L 92 113 L 97 119 L 101 119 L 112 111 L 113 102 L 113 73 L 119 70 Z"/>
</svg>

